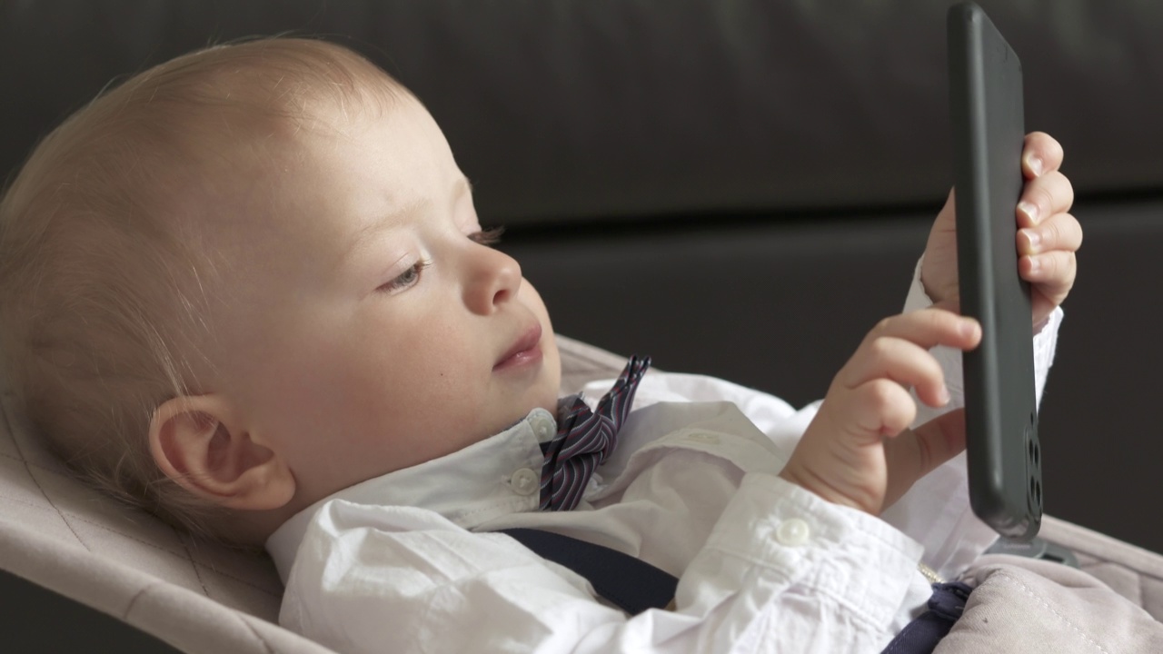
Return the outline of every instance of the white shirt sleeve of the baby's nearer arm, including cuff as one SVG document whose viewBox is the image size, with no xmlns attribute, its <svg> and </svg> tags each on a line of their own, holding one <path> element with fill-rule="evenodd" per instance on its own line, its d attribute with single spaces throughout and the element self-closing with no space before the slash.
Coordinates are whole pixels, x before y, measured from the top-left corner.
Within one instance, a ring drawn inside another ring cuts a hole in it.
<svg viewBox="0 0 1163 654">
<path fill-rule="evenodd" d="M 749 474 L 677 609 L 628 617 L 504 534 L 336 500 L 307 531 L 279 621 L 350 653 L 878 652 L 920 554 L 876 518 Z"/>
</svg>

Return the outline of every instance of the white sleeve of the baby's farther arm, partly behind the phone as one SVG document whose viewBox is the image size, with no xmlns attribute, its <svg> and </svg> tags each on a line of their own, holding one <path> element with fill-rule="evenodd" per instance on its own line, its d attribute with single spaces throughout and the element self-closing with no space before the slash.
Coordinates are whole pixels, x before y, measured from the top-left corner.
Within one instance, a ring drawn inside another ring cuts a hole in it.
<svg viewBox="0 0 1163 654">
<path fill-rule="evenodd" d="M 913 273 L 905 300 L 906 313 L 933 305 L 921 284 L 921 263 L 923 257 L 916 263 Z M 1062 307 L 1055 308 L 1046 325 L 1034 335 L 1034 389 L 1040 404 L 1054 363 L 1062 318 Z M 942 346 L 930 351 L 944 371 L 951 400 L 940 408 L 916 400 L 914 426 L 965 405 L 961 350 Z M 916 399 L 915 393 L 913 399 Z M 970 507 L 964 453 L 918 481 L 897 504 L 883 512 L 882 518 L 921 542 L 926 553 L 925 563 L 949 578 L 964 570 L 997 540 L 993 528 L 979 520 Z"/>
</svg>

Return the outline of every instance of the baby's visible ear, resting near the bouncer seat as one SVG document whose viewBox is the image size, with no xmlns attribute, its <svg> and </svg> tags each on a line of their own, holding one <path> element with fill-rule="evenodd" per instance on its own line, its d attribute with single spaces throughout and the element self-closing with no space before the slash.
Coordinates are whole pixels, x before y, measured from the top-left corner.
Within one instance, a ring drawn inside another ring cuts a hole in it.
<svg viewBox="0 0 1163 654">
<path fill-rule="evenodd" d="M 222 396 L 183 396 L 163 403 L 150 420 L 154 461 L 183 488 L 229 509 L 278 509 L 295 482 L 277 453 L 255 442 Z"/>
</svg>

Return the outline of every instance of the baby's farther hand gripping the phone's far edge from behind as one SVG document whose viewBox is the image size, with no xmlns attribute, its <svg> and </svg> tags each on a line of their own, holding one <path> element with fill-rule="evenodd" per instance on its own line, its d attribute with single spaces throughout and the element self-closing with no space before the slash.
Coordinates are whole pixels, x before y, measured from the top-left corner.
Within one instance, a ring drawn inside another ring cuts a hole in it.
<svg viewBox="0 0 1163 654">
<path fill-rule="evenodd" d="M 1016 209 L 1018 273 L 1032 285 L 1035 326 L 1070 293 L 1078 270 L 1075 253 L 1083 243 L 1083 228 L 1068 213 L 1075 191 L 1058 171 L 1062 156 L 1062 145 L 1050 135 L 1026 136 L 1021 156 L 1026 185 Z M 959 298 L 954 192 L 933 223 L 921 264 L 921 283 L 934 303 Z"/>
</svg>

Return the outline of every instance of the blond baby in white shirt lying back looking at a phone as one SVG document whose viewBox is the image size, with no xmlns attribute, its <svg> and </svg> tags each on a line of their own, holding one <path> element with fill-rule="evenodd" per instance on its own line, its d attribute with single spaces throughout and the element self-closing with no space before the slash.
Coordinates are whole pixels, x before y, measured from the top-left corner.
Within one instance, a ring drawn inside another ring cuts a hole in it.
<svg viewBox="0 0 1163 654">
<path fill-rule="evenodd" d="M 1030 135 L 1022 162 L 1041 391 L 1082 229 L 1057 142 Z M 951 194 L 906 313 L 822 404 L 638 383 L 640 363 L 616 448 L 559 511 L 552 325 L 495 236 L 433 118 L 365 59 L 209 48 L 94 100 L 13 182 L 3 375 L 91 483 L 265 545 L 280 621 L 343 652 L 878 651 L 932 592 L 922 559 L 955 575 L 992 541 L 949 411 L 980 339 L 956 314 Z M 609 606 L 511 527 L 662 568 L 673 610 Z"/>
</svg>

